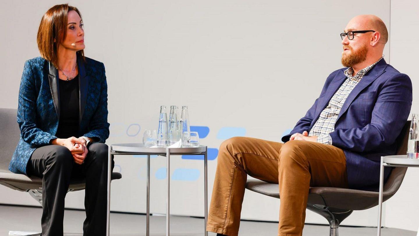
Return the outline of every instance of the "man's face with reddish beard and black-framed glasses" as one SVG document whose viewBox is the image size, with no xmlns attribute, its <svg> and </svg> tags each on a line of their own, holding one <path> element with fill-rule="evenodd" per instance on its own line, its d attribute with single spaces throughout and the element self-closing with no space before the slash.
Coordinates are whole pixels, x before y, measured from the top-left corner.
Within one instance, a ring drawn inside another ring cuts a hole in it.
<svg viewBox="0 0 419 236">
<path fill-rule="evenodd" d="M 369 30 L 365 24 L 356 18 L 349 21 L 344 32 L 358 31 L 358 30 Z M 371 32 L 367 33 L 355 33 L 354 39 L 349 40 L 348 37 L 344 37 L 342 40 L 343 52 L 342 52 L 342 65 L 345 67 L 352 67 L 359 63 L 362 63 L 367 58 L 368 47 L 370 42 Z"/>
</svg>

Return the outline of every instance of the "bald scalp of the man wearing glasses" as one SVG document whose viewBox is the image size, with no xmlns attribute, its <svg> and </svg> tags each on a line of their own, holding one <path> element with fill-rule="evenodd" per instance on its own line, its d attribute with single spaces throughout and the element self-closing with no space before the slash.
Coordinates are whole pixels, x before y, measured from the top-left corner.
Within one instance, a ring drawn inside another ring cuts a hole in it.
<svg viewBox="0 0 419 236">
<path fill-rule="evenodd" d="M 380 33 L 380 42 L 387 43 L 388 31 L 383 20 L 374 15 L 359 15 L 349 21 L 347 27 L 358 30 L 374 30 Z"/>
</svg>

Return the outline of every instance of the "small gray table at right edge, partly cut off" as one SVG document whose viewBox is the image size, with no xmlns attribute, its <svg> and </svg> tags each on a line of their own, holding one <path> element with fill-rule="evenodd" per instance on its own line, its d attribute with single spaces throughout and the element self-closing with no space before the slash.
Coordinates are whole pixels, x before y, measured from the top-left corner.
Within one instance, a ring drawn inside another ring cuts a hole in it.
<svg viewBox="0 0 419 236">
<path fill-rule="evenodd" d="M 393 155 L 381 157 L 380 192 L 378 195 L 378 225 L 377 236 L 381 235 L 381 212 L 383 206 L 384 167 L 419 167 L 419 159 L 409 159 L 407 155 Z"/>
</svg>

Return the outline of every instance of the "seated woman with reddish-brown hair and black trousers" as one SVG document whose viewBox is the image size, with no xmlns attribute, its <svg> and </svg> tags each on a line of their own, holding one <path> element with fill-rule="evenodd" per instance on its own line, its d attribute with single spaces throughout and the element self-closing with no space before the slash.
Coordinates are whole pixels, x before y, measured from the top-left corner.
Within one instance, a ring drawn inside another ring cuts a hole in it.
<svg viewBox="0 0 419 236">
<path fill-rule="evenodd" d="M 63 235 L 64 198 L 72 178 L 86 179 L 83 235 L 105 235 L 105 68 L 84 57 L 81 14 L 68 4 L 44 14 L 37 43 L 41 57 L 23 68 L 17 118 L 21 139 L 9 170 L 42 178 L 42 236 Z"/>
</svg>

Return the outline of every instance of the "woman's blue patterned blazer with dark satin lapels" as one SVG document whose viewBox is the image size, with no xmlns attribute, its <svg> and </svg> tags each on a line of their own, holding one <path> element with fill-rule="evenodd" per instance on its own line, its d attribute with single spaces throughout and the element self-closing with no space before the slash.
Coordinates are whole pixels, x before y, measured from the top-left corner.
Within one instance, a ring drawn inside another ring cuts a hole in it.
<svg viewBox="0 0 419 236">
<path fill-rule="evenodd" d="M 80 136 L 104 143 L 109 137 L 108 93 L 105 66 L 79 55 Z M 19 89 L 17 121 L 21 138 L 10 161 L 9 170 L 26 174 L 32 152 L 49 145 L 58 128 L 60 112 L 57 68 L 44 58 L 25 62 Z"/>
</svg>

